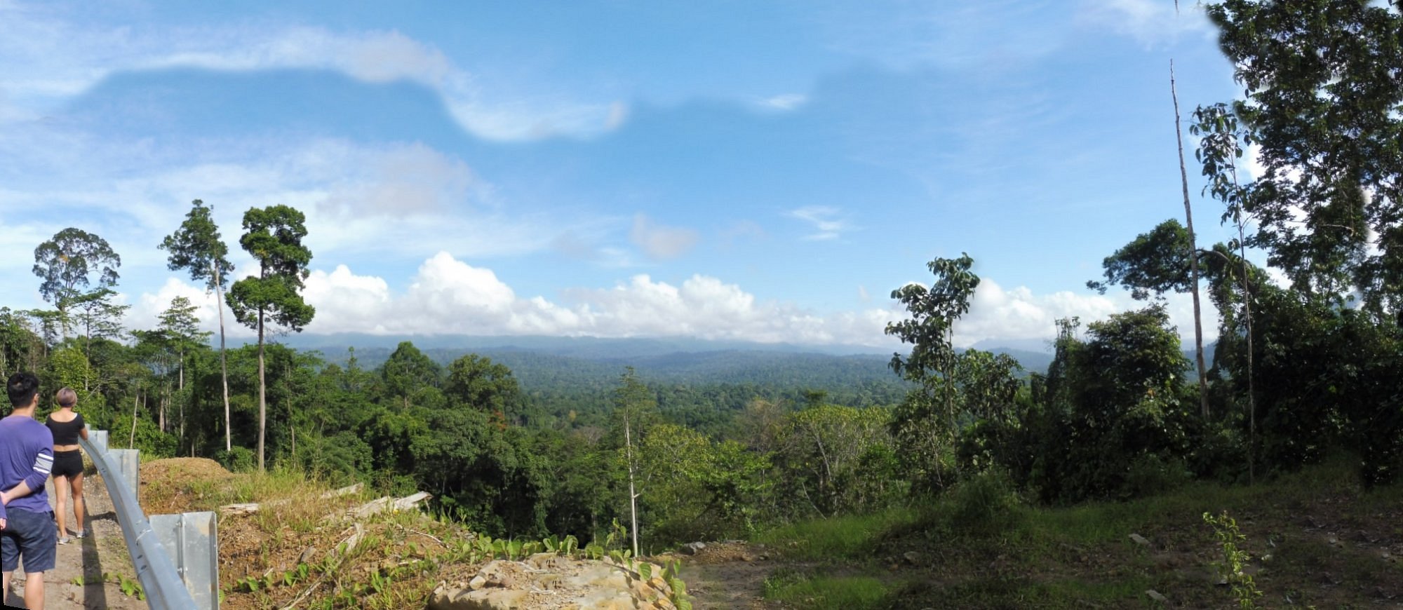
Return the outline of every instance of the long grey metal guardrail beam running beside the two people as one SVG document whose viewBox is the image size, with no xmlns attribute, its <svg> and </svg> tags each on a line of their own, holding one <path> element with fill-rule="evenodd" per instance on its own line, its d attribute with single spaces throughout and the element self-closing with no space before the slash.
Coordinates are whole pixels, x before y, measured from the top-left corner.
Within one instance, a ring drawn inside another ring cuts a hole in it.
<svg viewBox="0 0 1403 610">
<path fill-rule="evenodd" d="M 97 431 L 101 432 L 101 431 Z M 90 436 L 98 436 L 97 432 Z M 116 470 L 116 464 L 109 463 L 107 452 L 107 433 L 101 432 L 98 443 L 79 438 L 79 445 L 87 453 L 93 464 L 97 466 L 107 494 L 112 498 L 112 510 L 116 512 L 116 522 L 122 526 L 122 538 L 126 541 L 126 551 L 132 555 L 132 567 L 136 568 L 136 579 L 142 582 L 146 592 L 146 603 L 152 610 L 191 610 L 199 606 L 185 583 L 181 581 L 175 564 L 171 562 L 166 548 L 156 540 L 150 522 L 142 513 L 136 502 L 136 481 L 126 481 L 126 477 Z"/>
</svg>

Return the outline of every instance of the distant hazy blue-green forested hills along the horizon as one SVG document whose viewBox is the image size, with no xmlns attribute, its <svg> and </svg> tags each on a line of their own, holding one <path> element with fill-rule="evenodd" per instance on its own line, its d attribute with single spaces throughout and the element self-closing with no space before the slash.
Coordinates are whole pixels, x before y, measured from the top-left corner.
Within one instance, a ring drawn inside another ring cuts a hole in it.
<svg viewBox="0 0 1403 610">
<path fill-rule="evenodd" d="M 338 335 L 289 342 L 320 351 L 327 362 L 340 366 L 349 363 L 349 348 L 355 346 L 356 365 L 375 369 L 390 358 L 398 341 L 404 338 Z M 613 409 L 613 393 L 626 367 L 654 390 L 664 414 L 707 433 L 721 433 L 731 415 L 756 398 L 801 404 L 821 395 L 825 402 L 873 407 L 901 402 L 911 390 L 888 367 L 891 353 L 873 353 L 874 348 L 550 337 L 408 341 L 441 366 L 467 353 L 505 365 L 523 390 L 522 415 L 546 426 L 561 418 L 602 425 Z M 863 349 L 867 353 L 853 353 Z M 1028 372 L 1047 370 L 1051 360 L 1051 355 L 1038 352 L 995 352 L 1028 362 Z"/>
</svg>

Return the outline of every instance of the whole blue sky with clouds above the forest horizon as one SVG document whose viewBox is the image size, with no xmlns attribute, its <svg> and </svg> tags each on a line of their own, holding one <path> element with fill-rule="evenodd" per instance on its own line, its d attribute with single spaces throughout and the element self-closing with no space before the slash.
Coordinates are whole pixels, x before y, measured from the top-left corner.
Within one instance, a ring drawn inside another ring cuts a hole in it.
<svg viewBox="0 0 1403 610">
<path fill-rule="evenodd" d="M 1186 116 L 1239 93 L 1183 4 L 0 0 L 0 306 L 77 226 L 132 327 L 212 325 L 156 248 L 198 198 L 236 251 L 307 213 L 307 332 L 891 346 L 890 292 L 967 251 L 957 342 L 1037 344 L 1183 216 L 1170 59 Z"/>
</svg>

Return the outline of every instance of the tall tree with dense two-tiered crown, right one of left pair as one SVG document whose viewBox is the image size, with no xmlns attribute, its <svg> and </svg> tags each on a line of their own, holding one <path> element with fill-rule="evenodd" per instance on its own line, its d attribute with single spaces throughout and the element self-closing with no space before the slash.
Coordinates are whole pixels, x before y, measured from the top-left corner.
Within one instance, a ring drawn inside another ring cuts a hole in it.
<svg viewBox="0 0 1403 610">
<path fill-rule="evenodd" d="M 265 470 L 264 439 L 268 428 L 268 383 L 264 366 L 264 335 L 269 323 L 302 331 L 317 310 L 302 300 L 311 251 L 302 245 L 307 236 L 306 216 L 289 206 L 251 208 L 244 212 L 244 234 L 239 244 L 258 261 L 258 275 L 229 287 L 229 309 L 234 320 L 258 331 L 258 470 Z"/>
</svg>

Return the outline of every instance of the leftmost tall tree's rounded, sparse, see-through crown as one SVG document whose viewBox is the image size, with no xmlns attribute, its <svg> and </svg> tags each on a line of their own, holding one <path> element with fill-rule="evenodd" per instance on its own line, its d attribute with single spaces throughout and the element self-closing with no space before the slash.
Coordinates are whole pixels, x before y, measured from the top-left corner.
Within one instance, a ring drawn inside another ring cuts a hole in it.
<svg viewBox="0 0 1403 610">
<path fill-rule="evenodd" d="M 73 304 L 87 296 L 83 289 L 94 279 L 98 289 L 116 286 L 118 266 L 122 266 L 122 257 L 112 245 L 81 229 L 67 227 L 34 248 L 34 275 L 42 280 L 39 294 L 59 310 L 65 337 Z"/>
</svg>

